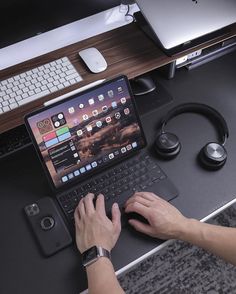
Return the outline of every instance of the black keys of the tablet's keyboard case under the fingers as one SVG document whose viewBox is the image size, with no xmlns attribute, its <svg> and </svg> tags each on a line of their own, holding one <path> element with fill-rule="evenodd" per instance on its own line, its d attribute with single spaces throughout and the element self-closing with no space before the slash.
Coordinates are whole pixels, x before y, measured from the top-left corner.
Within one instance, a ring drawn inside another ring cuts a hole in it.
<svg viewBox="0 0 236 294">
<path fill-rule="evenodd" d="M 75 190 L 58 196 L 58 200 L 69 221 L 73 221 L 76 206 L 89 192 L 95 196 L 100 193 L 104 195 L 109 213 L 114 202 L 122 208 L 135 191 L 145 191 L 165 178 L 166 175 L 149 155 L 142 154 L 94 177 Z"/>
</svg>

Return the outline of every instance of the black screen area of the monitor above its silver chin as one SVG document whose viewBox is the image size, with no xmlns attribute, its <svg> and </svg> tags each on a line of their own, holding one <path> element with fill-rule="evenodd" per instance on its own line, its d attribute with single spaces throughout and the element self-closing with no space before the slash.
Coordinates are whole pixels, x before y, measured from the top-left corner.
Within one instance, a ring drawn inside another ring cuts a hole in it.
<svg viewBox="0 0 236 294">
<path fill-rule="evenodd" d="M 3 0 L 0 48 L 119 4 L 120 0 Z"/>
</svg>

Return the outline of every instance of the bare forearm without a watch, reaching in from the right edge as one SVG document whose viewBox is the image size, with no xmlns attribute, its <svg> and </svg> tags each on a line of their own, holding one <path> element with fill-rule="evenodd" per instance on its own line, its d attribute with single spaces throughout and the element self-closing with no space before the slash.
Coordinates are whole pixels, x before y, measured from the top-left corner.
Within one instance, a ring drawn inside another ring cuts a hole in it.
<svg viewBox="0 0 236 294">
<path fill-rule="evenodd" d="M 236 228 L 227 228 L 189 219 L 179 239 L 202 247 L 236 265 Z"/>
</svg>

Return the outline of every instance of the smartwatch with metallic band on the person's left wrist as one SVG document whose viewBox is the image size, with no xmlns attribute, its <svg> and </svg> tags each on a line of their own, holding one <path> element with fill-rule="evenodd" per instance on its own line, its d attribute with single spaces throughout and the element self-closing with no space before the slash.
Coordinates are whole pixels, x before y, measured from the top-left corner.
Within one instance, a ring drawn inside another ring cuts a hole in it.
<svg viewBox="0 0 236 294">
<path fill-rule="evenodd" d="M 88 250 L 84 251 L 84 253 L 82 253 L 83 266 L 86 267 L 87 265 L 94 263 L 100 257 L 107 257 L 111 259 L 111 253 L 101 246 L 93 246 L 89 248 Z"/>
</svg>

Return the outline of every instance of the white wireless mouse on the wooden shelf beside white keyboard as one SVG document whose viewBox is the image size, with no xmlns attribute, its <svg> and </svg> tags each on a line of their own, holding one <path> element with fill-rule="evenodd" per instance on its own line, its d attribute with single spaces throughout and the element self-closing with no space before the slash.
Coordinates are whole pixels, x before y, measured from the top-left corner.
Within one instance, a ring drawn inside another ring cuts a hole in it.
<svg viewBox="0 0 236 294">
<path fill-rule="evenodd" d="M 107 68 L 107 62 L 98 49 L 91 47 L 79 51 L 79 56 L 93 73 L 99 73 Z"/>
</svg>

